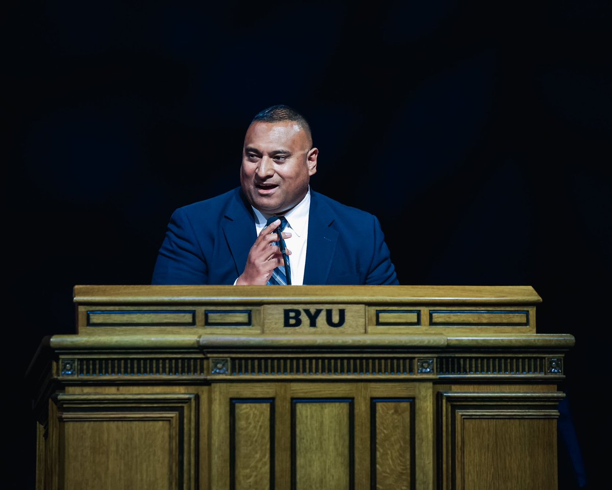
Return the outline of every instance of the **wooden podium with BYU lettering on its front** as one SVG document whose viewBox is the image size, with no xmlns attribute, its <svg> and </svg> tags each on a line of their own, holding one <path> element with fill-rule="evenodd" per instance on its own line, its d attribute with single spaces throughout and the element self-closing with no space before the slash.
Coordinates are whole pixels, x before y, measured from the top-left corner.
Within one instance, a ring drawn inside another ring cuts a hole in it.
<svg viewBox="0 0 612 490">
<path fill-rule="evenodd" d="M 531 287 L 76 286 L 28 377 L 39 489 L 556 489 Z"/>
</svg>

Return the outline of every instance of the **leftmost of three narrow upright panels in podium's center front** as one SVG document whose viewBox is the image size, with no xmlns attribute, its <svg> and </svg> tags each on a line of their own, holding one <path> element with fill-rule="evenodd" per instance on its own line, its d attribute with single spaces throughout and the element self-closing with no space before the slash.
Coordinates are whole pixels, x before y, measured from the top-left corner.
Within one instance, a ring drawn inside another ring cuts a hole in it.
<svg viewBox="0 0 612 490">
<path fill-rule="evenodd" d="M 274 489 L 274 401 L 271 399 L 231 400 L 230 489 Z"/>
</svg>

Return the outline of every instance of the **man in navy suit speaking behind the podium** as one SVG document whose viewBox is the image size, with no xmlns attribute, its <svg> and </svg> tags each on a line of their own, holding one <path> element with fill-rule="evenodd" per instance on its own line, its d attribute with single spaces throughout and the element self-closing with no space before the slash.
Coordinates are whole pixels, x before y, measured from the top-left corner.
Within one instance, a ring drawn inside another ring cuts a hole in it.
<svg viewBox="0 0 612 490">
<path fill-rule="evenodd" d="M 244 138 L 241 187 L 173 213 L 152 284 L 279 284 L 285 262 L 271 245 L 285 220 L 290 271 L 280 284 L 398 284 L 378 219 L 310 190 L 318 154 L 297 111 L 258 113 Z"/>
</svg>

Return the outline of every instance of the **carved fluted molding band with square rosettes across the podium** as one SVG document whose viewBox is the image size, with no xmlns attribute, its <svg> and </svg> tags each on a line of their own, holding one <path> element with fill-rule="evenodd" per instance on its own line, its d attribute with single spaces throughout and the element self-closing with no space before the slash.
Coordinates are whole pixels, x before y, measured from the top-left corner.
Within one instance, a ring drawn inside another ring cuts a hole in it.
<svg viewBox="0 0 612 490">
<path fill-rule="evenodd" d="M 152 380 L 430 378 L 562 379 L 561 355 L 282 355 L 217 353 L 61 355 L 55 364 L 61 382 L 151 382 Z"/>
</svg>

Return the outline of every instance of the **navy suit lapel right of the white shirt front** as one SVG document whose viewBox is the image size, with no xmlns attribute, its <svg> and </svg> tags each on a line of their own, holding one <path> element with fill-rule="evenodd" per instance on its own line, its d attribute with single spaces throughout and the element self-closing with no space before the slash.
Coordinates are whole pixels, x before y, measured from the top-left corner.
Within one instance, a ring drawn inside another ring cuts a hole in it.
<svg viewBox="0 0 612 490">
<path fill-rule="evenodd" d="M 334 219 L 329 206 L 311 191 L 304 284 L 327 284 L 338 241 L 338 232 L 330 228 Z"/>
</svg>

